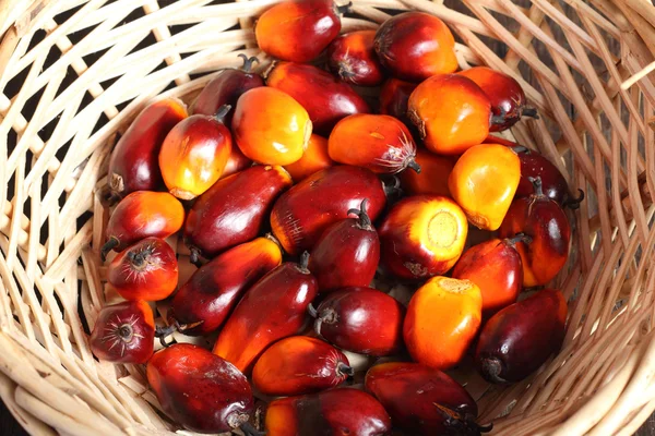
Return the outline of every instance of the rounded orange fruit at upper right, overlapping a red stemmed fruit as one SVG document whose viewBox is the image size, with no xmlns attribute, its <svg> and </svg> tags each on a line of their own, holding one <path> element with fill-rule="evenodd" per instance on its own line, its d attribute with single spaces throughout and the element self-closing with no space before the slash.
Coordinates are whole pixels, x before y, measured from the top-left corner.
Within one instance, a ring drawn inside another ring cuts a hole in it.
<svg viewBox="0 0 655 436">
<path fill-rule="evenodd" d="M 425 146 L 439 155 L 461 155 L 489 134 L 489 98 L 462 75 L 431 76 L 414 89 L 407 105 Z"/>
</svg>

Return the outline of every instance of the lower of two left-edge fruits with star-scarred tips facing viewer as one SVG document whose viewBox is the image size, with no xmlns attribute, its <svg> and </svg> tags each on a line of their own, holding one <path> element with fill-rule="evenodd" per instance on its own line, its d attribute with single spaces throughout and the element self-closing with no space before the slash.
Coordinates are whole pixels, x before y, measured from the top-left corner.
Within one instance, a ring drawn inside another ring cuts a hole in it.
<svg viewBox="0 0 655 436">
<path fill-rule="evenodd" d="M 153 311 L 140 300 L 103 307 L 90 338 L 93 355 L 112 363 L 145 363 L 154 343 Z"/>
</svg>

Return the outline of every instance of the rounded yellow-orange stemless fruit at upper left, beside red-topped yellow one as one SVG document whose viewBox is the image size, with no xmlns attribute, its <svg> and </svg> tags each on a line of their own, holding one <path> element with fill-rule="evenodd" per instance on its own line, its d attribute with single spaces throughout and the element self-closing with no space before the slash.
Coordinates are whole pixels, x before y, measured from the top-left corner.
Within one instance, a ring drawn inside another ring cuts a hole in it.
<svg viewBox="0 0 655 436">
<path fill-rule="evenodd" d="M 233 118 L 243 155 L 265 165 L 289 165 L 302 157 L 311 135 L 307 110 L 291 96 L 269 86 L 246 92 Z"/>
</svg>

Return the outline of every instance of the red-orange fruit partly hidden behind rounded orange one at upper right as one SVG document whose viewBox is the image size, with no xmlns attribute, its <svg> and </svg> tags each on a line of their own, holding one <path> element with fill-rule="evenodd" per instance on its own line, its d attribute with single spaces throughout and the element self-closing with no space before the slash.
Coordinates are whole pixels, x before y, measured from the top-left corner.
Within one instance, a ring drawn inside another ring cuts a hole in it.
<svg viewBox="0 0 655 436">
<path fill-rule="evenodd" d="M 537 111 L 527 106 L 525 93 L 514 77 L 488 66 L 474 66 L 457 74 L 474 81 L 489 97 L 491 113 L 497 117 L 497 123 L 489 131 L 508 130 L 521 117 L 537 117 Z"/>
</svg>

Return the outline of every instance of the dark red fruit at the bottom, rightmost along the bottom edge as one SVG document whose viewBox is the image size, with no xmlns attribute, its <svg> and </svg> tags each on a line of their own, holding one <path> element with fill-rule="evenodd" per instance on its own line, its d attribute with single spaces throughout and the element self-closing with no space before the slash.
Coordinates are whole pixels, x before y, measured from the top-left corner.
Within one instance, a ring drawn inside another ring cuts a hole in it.
<svg viewBox="0 0 655 436">
<path fill-rule="evenodd" d="M 418 363 L 382 363 L 367 372 L 365 386 L 389 412 L 393 425 L 412 435 L 477 436 L 491 429 L 476 424 L 474 399 L 439 370 Z"/>
</svg>

